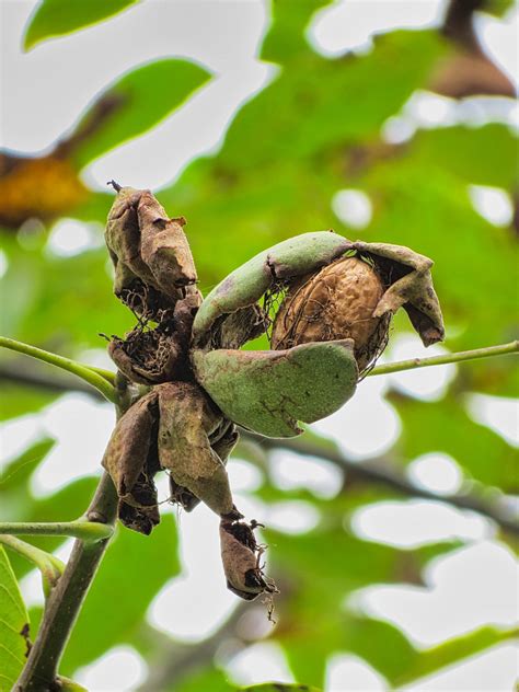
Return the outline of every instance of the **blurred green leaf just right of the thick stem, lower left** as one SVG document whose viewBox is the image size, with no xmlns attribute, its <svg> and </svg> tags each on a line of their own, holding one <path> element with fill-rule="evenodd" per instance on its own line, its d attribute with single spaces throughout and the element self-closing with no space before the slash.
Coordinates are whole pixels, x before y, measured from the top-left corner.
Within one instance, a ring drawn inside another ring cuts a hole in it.
<svg viewBox="0 0 519 692">
<path fill-rule="evenodd" d="M 73 671 L 117 644 L 131 641 L 149 604 L 181 570 L 171 515 L 145 537 L 119 527 L 86 596 L 61 670 Z"/>
</svg>

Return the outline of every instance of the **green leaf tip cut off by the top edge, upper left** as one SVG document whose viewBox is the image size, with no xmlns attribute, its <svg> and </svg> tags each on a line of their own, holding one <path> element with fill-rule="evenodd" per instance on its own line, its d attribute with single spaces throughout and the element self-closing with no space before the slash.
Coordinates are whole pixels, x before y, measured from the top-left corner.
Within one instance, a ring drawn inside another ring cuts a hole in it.
<svg viewBox="0 0 519 692">
<path fill-rule="evenodd" d="M 118 14 L 139 0 L 42 0 L 28 21 L 25 50 L 48 38 L 70 34 Z"/>
</svg>

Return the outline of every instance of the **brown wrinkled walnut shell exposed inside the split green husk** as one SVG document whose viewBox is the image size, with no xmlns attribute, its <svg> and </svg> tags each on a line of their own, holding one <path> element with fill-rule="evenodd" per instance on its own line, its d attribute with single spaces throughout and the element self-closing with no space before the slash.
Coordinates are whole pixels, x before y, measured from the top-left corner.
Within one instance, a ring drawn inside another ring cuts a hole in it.
<svg viewBox="0 0 519 692">
<path fill-rule="evenodd" d="M 357 257 L 338 260 L 307 275 L 290 287 L 279 308 L 272 347 L 278 350 L 308 342 L 353 338 L 362 371 L 387 336 L 389 316 L 372 316 L 383 292 L 377 272 Z"/>
</svg>

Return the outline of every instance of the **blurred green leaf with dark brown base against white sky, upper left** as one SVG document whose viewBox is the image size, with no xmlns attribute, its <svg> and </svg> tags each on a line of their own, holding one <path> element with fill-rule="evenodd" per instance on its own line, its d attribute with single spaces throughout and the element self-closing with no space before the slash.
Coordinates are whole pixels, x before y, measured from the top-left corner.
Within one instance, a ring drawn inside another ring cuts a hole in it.
<svg viewBox="0 0 519 692">
<path fill-rule="evenodd" d="M 149 62 L 123 76 L 99 96 L 79 123 L 78 131 L 84 131 L 99 117 L 103 104 L 113 105 L 111 115 L 74 151 L 76 163 L 82 168 L 114 147 L 142 135 L 181 106 L 209 78 L 209 72 L 195 62 L 173 58 Z"/>
</svg>

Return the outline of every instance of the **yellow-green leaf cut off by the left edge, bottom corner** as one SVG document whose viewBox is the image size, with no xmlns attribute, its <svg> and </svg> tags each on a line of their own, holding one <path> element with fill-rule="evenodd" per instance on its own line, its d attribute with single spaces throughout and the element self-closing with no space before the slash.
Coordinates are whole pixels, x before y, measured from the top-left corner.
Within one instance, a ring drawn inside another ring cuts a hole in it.
<svg viewBox="0 0 519 692">
<path fill-rule="evenodd" d="M 0 545 L 0 692 L 9 692 L 26 661 L 28 615 L 9 563 Z"/>
</svg>

